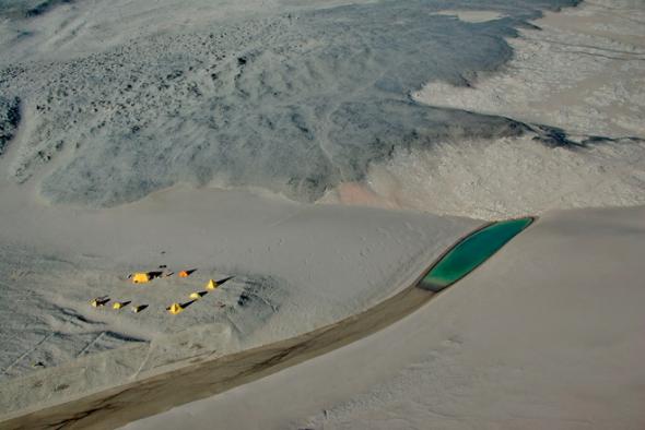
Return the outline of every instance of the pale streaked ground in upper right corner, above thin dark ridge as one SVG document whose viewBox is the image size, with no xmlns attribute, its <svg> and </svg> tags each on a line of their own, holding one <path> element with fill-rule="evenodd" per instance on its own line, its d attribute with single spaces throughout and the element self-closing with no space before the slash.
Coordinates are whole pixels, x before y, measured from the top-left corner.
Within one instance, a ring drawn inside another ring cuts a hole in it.
<svg viewBox="0 0 645 430">
<path fill-rule="evenodd" d="M 547 12 L 508 39 L 513 60 L 471 87 L 431 82 L 421 103 L 561 127 L 571 133 L 645 136 L 645 8 L 585 1 Z"/>
</svg>

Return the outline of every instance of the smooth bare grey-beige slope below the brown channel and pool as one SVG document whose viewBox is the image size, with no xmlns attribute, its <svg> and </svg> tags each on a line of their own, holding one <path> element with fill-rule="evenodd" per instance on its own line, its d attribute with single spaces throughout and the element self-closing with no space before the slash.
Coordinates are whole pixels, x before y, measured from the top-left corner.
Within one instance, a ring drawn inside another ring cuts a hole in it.
<svg viewBox="0 0 645 430">
<path fill-rule="evenodd" d="M 642 429 L 644 219 L 548 214 L 383 332 L 126 428 Z"/>
</svg>

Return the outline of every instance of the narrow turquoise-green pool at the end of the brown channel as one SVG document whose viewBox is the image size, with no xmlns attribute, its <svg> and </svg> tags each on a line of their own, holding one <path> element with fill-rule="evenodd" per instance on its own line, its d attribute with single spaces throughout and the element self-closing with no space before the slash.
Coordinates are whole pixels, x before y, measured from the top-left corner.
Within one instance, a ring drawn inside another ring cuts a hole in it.
<svg viewBox="0 0 645 430">
<path fill-rule="evenodd" d="M 436 292 L 456 283 L 491 258 L 532 220 L 520 218 L 499 222 L 473 232 L 448 251 L 421 279 L 419 286 Z"/>
</svg>

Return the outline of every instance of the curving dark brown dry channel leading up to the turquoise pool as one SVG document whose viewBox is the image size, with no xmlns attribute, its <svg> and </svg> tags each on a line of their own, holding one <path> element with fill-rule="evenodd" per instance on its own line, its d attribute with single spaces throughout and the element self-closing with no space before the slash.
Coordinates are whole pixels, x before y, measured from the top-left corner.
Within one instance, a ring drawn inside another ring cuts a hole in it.
<svg viewBox="0 0 645 430">
<path fill-rule="evenodd" d="M 417 282 L 365 312 L 303 335 L 224 357 L 191 359 L 176 370 L 30 414 L 22 411 L 1 426 L 109 429 L 231 390 L 349 345 L 408 315 L 436 296 L 418 288 Z"/>
</svg>

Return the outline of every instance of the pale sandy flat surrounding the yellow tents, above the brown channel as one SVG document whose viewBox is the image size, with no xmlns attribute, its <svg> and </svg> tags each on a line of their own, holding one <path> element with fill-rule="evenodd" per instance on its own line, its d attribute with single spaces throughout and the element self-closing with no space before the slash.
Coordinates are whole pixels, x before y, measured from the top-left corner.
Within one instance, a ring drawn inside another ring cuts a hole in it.
<svg viewBox="0 0 645 430">
<path fill-rule="evenodd" d="M 407 286 L 480 224 L 212 189 L 178 188 L 101 211 L 48 207 L 16 186 L 0 195 L 2 414 L 329 324 Z M 161 263 L 198 272 L 150 286 L 127 282 L 131 271 Z M 226 275 L 236 278 L 184 313 L 165 311 Z M 103 295 L 150 308 L 90 307 Z M 132 344 L 141 341 L 152 343 Z"/>
</svg>

